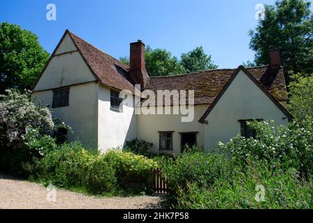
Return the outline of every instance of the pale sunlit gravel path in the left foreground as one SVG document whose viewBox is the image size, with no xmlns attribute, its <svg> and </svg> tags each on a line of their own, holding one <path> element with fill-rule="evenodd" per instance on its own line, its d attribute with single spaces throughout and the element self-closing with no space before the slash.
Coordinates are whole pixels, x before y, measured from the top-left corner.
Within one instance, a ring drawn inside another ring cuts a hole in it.
<svg viewBox="0 0 313 223">
<path fill-rule="evenodd" d="M 56 201 L 47 201 L 46 187 L 0 173 L 1 208 L 162 208 L 163 197 L 93 197 L 67 190 L 56 190 Z M 51 199 L 50 199 L 51 200 Z"/>
</svg>

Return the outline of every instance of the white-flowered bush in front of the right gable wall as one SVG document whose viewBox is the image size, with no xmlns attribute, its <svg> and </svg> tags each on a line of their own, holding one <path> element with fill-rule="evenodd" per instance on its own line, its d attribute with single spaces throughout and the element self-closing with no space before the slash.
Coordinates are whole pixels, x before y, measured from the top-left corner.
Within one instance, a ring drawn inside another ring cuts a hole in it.
<svg viewBox="0 0 313 223">
<path fill-rule="evenodd" d="M 296 168 L 307 178 L 312 176 L 312 119 L 278 127 L 273 121 L 251 122 L 248 126 L 256 130 L 256 139 L 237 136 L 225 145 L 218 144 L 218 148 L 230 153 L 235 162 L 246 164 L 248 157 L 266 160 L 270 164 L 280 161 L 286 167 Z"/>
</svg>

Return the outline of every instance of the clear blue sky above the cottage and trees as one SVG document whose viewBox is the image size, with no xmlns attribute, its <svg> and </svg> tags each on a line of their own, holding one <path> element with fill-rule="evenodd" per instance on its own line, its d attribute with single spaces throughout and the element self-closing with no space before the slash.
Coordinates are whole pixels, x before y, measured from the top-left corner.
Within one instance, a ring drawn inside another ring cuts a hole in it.
<svg viewBox="0 0 313 223">
<path fill-rule="evenodd" d="M 48 21 L 48 3 L 56 21 Z M 175 56 L 202 45 L 219 68 L 253 60 L 249 29 L 257 20 L 257 3 L 271 0 L 11 0 L 0 3 L 0 22 L 19 24 L 39 37 L 52 52 L 65 29 L 119 58 L 129 43 L 143 40 Z"/>
</svg>

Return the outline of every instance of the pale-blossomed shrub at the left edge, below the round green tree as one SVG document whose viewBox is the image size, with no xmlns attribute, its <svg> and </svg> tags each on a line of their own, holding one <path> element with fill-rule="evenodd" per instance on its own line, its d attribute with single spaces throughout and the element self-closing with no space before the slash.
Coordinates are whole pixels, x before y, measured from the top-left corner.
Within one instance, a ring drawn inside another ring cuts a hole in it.
<svg viewBox="0 0 313 223">
<path fill-rule="evenodd" d="M 54 123 L 47 107 L 35 106 L 30 91 L 20 94 L 6 90 L 0 95 L 0 142 L 1 147 L 20 149 L 24 145 L 22 135 L 27 128 L 38 129 L 40 134 L 51 134 Z"/>
</svg>

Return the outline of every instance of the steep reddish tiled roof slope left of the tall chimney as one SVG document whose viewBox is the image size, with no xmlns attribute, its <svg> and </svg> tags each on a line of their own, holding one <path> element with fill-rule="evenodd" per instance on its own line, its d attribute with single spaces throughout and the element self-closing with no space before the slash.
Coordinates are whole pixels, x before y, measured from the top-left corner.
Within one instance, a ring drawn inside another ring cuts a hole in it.
<svg viewBox="0 0 313 223">
<path fill-rule="evenodd" d="M 128 66 L 87 43 L 74 33 L 68 30 L 66 32 L 74 41 L 84 61 L 99 82 L 115 89 L 134 91 L 133 81 L 128 74 Z"/>
</svg>

